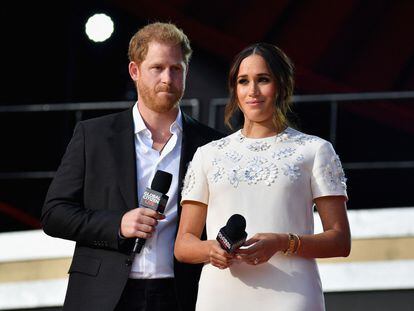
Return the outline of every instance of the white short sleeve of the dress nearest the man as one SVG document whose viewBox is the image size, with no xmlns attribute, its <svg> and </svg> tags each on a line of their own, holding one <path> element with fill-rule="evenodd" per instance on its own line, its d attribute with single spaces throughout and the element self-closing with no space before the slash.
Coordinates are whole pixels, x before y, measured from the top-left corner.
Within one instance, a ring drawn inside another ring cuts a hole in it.
<svg viewBox="0 0 414 311">
<path fill-rule="evenodd" d="M 208 203 L 208 181 L 203 164 L 202 150 L 198 148 L 187 168 L 181 193 L 181 203 L 184 201 Z"/>
</svg>

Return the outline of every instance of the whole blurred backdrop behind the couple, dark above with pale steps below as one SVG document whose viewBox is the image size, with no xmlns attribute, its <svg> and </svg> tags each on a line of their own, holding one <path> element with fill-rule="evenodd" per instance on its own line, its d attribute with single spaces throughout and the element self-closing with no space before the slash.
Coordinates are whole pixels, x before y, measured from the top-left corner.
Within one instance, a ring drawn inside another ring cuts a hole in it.
<svg viewBox="0 0 414 311">
<path fill-rule="evenodd" d="M 95 13 L 114 21 L 105 42 L 84 32 Z M 292 119 L 335 144 L 348 177 L 353 250 L 320 261 L 327 309 L 411 310 L 413 13 L 412 1 L 7 3 L 0 12 L 0 310 L 59 310 L 73 244 L 36 230 L 41 205 L 76 122 L 134 103 L 128 41 L 155 20 L 177 24 L 192 40 L 184 109 L 223 131 L 232 57 L 267 41 L 292 58 Z"/>
</svg>

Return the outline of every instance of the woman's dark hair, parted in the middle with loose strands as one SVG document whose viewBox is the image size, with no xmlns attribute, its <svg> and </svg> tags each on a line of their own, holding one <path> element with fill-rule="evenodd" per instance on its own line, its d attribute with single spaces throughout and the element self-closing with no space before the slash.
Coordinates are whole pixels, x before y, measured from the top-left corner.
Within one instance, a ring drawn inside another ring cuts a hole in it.
<svg viewBox="0 0 414 311">
<path fill-rule="evenodd" d="M 241 62 L 250 55 L 260 55 L 263 57 L 271 74 L 276 80 L 277 96 L 275 100 L 273 123 L 277 131 L 282 131 L 289 124 L 287 113 L 290 111 L 291 97 L 294 89 L 294 66 L 281 49 L 268 43 L 256 43 L 250 45 L 237 54 L 233 59 L 228 77 L 230 99 L 226 105 L 224 121 L 227 126 L 232 128 L 230 118 L 239 109 L 237 99 L 237 76 Z"/>
</svg>

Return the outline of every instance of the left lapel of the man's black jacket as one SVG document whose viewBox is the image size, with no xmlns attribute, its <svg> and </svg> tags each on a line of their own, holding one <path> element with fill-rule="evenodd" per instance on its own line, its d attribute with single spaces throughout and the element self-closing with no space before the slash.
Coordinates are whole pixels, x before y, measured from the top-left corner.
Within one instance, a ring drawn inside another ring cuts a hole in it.
<svg viewBox="0 0 414 311">
<path fill-rule="evenodd" d="M 138 207 L 134 139 L 132 110 L 128 109 L 115 119 L 113 135 L 109 138 L 117 166 L 116 179 L 127 210 Z"/>
</svg>

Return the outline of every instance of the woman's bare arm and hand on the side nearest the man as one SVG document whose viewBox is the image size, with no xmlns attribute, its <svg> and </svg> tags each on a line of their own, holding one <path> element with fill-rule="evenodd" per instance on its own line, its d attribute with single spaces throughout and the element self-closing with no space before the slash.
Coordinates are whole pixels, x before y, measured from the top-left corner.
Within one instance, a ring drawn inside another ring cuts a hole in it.
<svg viewBox="0 0 414 311">
<path fill-rule="evenodd" d="M 206 223 L 207 205 L 184 201 L 182 207 L 174 249 L 177 260 L 193 264 L 210 262 L 220 269 L 229 267 L 233 256 L 224 251 L 217 241 L 200 240 Z"/>
</svg>

